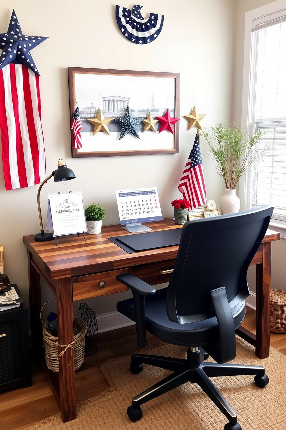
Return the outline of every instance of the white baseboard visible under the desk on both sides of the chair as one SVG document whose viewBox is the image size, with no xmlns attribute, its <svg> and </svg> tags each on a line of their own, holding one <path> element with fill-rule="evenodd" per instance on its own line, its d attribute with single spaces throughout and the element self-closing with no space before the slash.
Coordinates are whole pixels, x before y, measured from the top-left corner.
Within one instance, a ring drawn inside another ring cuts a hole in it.
<svg viewBox="0 0 286 430">
<path fill-rule="evenodd" d="M 250 291 L 250 295 L 247 297 L 246 304 L 248 307 L 255 310 L 256 294 L 252 291 Z M 121 329 L 135 324 L 134 321 L 126 318 L 126 316 L 119 312 L 109 312 L 97 315 L 96 320 L 98 324 L 98 333 L 110 332 L 111 330 Z"/>
</svg>

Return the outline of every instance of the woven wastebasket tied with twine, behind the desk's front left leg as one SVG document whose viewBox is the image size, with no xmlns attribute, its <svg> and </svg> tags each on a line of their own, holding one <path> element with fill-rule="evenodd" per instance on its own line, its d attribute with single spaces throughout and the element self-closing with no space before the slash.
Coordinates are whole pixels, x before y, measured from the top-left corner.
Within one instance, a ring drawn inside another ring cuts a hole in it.
<svg viewBox="0 0 286 430">
<path fill-rule="evenodd" d="M 86 323 L 80 318 L 73 319 L 73 327 L 77 329 L 78 333 L 73 337 L 73 353 L 75 361 L 75 370 L 78 369 L 84 361 L 84 344 L 85 335 L 87 332 Z M 48 369 L 54 372 L 59 371 L 59 351 L 57 338 L 52 336 L 47 329 L 43 328 L 43 338 L 45 347 L 45 359 Z M 69 354 L 69 347 L 67 348 L 66 354 Z"/>
</svg>

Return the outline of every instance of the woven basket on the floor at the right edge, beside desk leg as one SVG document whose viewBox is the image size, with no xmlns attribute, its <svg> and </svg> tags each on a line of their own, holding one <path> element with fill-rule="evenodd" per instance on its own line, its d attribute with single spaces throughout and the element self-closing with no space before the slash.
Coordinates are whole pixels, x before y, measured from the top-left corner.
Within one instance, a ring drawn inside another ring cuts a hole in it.
<svg viewBox="0 0 286 430">
<path fill-rule="evenodd" d="M 270 291 L 270 331 L 286 333 L 286 291 Z"/>
</svg>

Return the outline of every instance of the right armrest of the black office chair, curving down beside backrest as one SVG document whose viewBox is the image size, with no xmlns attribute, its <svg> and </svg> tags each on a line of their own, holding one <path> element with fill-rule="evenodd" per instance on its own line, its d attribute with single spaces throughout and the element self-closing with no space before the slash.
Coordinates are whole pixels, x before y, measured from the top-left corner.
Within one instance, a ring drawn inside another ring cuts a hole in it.
<svg viewBox="0 0 286 430">
<path fill-rule="evenodd" d="M 235 323 L 229 301 L 224 287 L 216 288 L 211 291 L 211 299 L 217 317 L 217 324 L 220 334 L 219 355 L 217 362 L 226 363 L 235 358 Z"/>
</svg>

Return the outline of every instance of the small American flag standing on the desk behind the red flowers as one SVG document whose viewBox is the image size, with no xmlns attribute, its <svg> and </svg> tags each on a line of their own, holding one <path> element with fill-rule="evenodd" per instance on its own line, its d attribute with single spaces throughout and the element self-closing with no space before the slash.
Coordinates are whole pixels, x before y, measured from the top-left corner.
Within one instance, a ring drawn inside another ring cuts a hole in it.
<svg viewBox="0 0 286 430">
<path fill-rule="evenodd" d="M 190 202 L 190 210 L 207 203 L 199 136 L 196 134 L 192 151 L 182 174 L 178 190 Z"/>
</svg>

